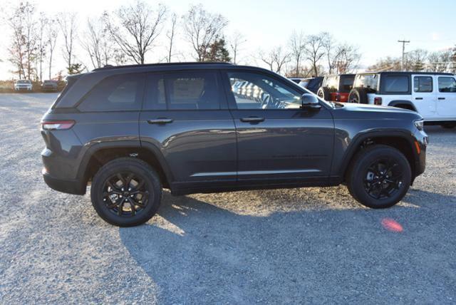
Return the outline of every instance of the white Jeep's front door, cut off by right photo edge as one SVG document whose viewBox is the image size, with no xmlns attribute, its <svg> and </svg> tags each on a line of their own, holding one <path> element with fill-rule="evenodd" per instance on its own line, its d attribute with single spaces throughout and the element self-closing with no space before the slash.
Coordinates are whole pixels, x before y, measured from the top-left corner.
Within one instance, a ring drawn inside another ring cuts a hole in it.
<svg viewBox="0 0 456 305">
<path fill-rule="evenodd" d="M 456 118 L 456 80 L 453 76 L 437 77 L 437 113 L 439 118 Z"/>
</svg>

